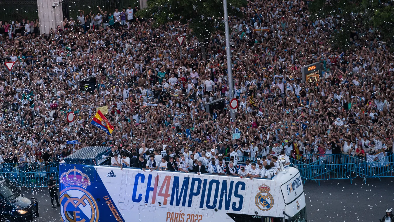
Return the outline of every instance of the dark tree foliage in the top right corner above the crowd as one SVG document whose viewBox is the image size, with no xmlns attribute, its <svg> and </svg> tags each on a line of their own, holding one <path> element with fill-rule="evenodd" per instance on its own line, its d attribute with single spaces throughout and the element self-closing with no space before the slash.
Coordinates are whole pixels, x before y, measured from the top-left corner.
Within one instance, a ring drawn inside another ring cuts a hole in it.
<svg viewBox="0 0 394 222">
<path fill-rule="evenodd" d="M 333 44 L 349 47 L 352 32 L 368 31 L 370 27 L 379 31 L 379 39 L 394 39 L 394 8 L 392 1 L 385 0 L 313 0 L 309 5 L 312 21 L 327 17 L 339 18 Z"/>
</svg>

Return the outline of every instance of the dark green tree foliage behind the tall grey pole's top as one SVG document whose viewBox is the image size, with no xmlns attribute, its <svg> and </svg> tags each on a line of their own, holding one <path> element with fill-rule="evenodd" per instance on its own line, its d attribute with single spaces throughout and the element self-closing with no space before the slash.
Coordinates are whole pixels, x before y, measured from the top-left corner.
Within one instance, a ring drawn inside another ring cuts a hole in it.
<svg viewBox="0 0 394 222">
<path fill-rule="evenodd" d="M 229 15 L 241 16 L 240 7 L 246 0 L 228 0 Z M 217 28 L 223 27 L 222 0 L 148 0 L 147 7 L 137 13 L 152 18 L 154 25 L 170 21 L 189 22 L 189 27 L 200 40 L 209 39 Z"/>
</svg>

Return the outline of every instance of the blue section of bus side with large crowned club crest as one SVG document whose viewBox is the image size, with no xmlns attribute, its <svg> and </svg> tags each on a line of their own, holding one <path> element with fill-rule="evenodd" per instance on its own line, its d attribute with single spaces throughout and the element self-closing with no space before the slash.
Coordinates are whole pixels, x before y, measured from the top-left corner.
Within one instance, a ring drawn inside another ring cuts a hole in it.
<svg viewBox="0 0 394 222">
<path fill-rule="evenodd" d="M 108 168 L 109 175 L 111 171 Z M 125 221 L 95 167 L 61 164 L 60 173 L 62 221 Z"/>
</svg>

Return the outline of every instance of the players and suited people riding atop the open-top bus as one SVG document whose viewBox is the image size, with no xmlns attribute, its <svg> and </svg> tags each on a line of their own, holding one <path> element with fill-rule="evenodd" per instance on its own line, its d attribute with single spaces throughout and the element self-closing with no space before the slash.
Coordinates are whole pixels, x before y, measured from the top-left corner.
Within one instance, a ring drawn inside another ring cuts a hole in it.
<svg viewBox="0 0 394 222">
<path fill-rule="evenodd" d="M 167 148 L 167 145 L 164 145 Z M 173 149 L 164 149 L 159 152 L 154 149 L 153 153 L 147 149 L 145 144 L 139 148 L 139 153 L 143 155 L 137 156 L 137 148 L 132 148 L 125 145 L 122 149 L 115 145 L 111 147 L 108 162 L 111 166 L 121 167 L 134 167 L 145 170 L 160 170 L 160 171 L 179 171 L 179 172 L 193 172 L 199 175 L 203 173 L 211 173 L 214 175 L 229 175 L 239 177 L 255 177 L 272 178 L 277 174 L 278 170 L 284 166 L 290 165 L 290 158 L 282 150 L 279 156 L 267 154 L 262 158 L 258 157 L 256 162 L 251 162 L 247 159 L 245 166 L 240 166 L 237 169 L 238 155 L 234 147 L 230 148 L 229 156 L 230 161 L 226 163 L 223 154 L 217 152 L 215 146 L 207 148 L 206 151 L 201 149 L 184 147 L 182 150 L 177 150 L 173 153 Z M 144 153 L 144 150 L 145 153 Z M 278 160 L 279 158 L 279 160 Z"/>
</svg>

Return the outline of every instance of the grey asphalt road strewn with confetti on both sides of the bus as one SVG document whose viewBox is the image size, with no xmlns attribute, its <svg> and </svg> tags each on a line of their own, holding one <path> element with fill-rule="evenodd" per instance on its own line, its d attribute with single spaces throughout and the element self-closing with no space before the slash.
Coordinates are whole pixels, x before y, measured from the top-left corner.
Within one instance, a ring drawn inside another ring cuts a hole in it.
<svg viewBox="0 0 394 222">
<path fill-rule="evenodd" d="M 357 178 L 305 183 L 305 200 L 309 222 L 378 222 L 387 208 L 394 208 L 394 178 Z M 35 222 L 58 222 L 60 208 L 51 208 L 47 188 L 26 189 L 26 197 L 39 201 L 40 217 Z"/>
</svg>

